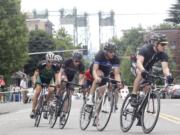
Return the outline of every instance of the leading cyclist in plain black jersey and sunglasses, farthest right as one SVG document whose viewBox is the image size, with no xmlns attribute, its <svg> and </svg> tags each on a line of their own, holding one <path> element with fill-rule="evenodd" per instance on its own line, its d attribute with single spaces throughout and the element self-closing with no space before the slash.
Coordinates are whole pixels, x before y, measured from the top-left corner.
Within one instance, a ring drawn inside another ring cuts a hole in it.
<svg viewBox="0 0 180 135">
<path fill-rule="evenodd" d="M 139 90 L 140 81 L 148 78 L 148 73 L 154 63 L 161 61 L 163 73 L 167 78 L 167 83 L 173 82 L 173 77 L 168 67 L 168 55 L 165 53 L 168 41 L 164 34 L 155 33 L 151 38 L 151 43 L 140 48 L 136 62 L 136 78 L 133 83 L 131 105 L 138 105 L 136 97 Z"/>
</svg>

